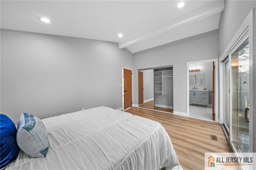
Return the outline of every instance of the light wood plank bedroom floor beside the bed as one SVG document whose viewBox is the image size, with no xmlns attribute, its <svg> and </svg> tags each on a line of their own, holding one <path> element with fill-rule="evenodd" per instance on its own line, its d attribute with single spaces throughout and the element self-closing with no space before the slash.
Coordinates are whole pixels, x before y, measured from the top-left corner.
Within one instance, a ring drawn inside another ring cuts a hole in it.
<svg viewBox="0 0 256 170">
<path fill-rule="evenodd" d="M 125 110 L 158 121 L 169 134 L 184 170 L 204 170 L 205 152 L 231 152 L 220 124 L 160 111 L 131 107 Z M 210 139 L 216 135 L 218 141 Z"/>
</svg>

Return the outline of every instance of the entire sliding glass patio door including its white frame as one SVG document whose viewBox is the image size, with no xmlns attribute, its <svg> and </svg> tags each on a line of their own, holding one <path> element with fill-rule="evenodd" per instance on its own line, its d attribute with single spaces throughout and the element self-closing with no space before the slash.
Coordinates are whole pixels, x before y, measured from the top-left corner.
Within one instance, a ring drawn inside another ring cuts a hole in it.
<svg viewBox="0 0 256 170">
<path fill-rule="evenodd" d="M 251 10 L 238 31 L 224 50 L 220 62 L 224 82 L 221 89 L 224 97 L 223 130 L 235 156 L 255 152 L 255 84 L 254 49 L 255 9 Z M 254 113 L 253 113 L 254 112 Z M 244 153 L 244 154 L 243 154 Z M 241 168 L 241 167 L 240 167 Z M 240 169 L 239 168 L 239 169 Z M 249 168 L 244 166 L 244 168 Z M 242 168 L 242 169 L 244 169 Z M 255 167 L 253 167 L 255 169 Z"/>
</svg>

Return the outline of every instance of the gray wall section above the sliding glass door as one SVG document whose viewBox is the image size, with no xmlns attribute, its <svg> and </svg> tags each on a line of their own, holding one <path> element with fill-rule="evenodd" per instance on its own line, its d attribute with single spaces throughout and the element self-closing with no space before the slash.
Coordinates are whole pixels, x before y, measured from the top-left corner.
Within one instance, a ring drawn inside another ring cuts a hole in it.
<svg viewBox="0 0 256 170">
<path fill-rule="evenodd" d="M 225 0 L 219 24 L 219 55 L 222 55 L 252 8 L 256 8 L 256 0 Z"/>
</svg>

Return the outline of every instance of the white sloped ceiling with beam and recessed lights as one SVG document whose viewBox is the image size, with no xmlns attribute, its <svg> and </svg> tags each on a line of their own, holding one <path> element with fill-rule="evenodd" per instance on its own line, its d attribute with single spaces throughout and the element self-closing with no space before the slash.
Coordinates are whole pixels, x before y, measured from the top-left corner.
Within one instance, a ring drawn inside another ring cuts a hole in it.
<svg viewBox="0 0 256 170">
<path fill-rule="evenodd" d="M 132 53 L 218 29 L 224 0 L 1 0 L 1 28 L 119 43 Z M 40 18 L 50 19 L 43 23 Z M 119 38 L 118 34 L 123 37 Z"/>
</svg>

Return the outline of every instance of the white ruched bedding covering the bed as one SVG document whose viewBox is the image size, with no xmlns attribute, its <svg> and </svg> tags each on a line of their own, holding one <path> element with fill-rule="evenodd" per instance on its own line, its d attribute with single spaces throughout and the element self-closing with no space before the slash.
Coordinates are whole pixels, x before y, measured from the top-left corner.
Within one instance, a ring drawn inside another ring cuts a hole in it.
<svg viewBox="0 0 256 170">
<path fill-rule="evenodd" d="M 182 169 L 170 137 L 156 121 L 108 107 L 42 119 L 48 131 L 45 158 L 20 151 L 6 169 Z"/>
</svg>

